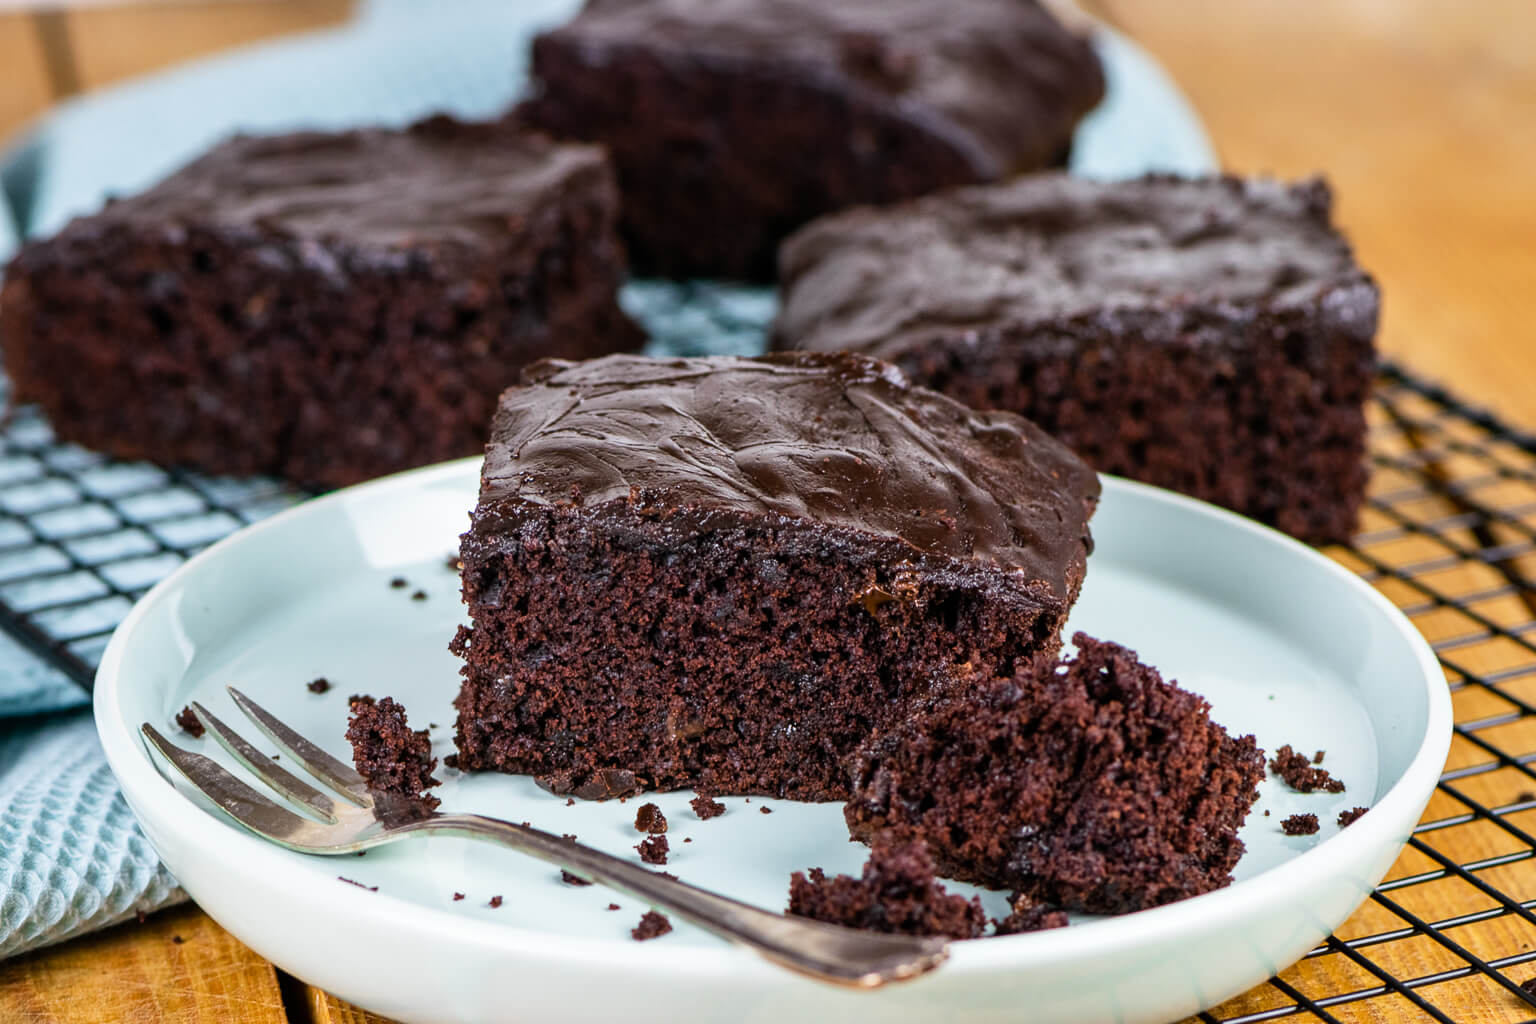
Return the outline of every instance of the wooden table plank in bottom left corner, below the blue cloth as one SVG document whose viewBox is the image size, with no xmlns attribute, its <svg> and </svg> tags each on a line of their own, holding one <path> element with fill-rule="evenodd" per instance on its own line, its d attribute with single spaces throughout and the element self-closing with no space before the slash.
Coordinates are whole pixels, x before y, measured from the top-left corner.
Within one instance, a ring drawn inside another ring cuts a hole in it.
<svg viewBox="0 0 1536 1024">
<path fill-rule="evenodd" d="M 287 1018 L 272 964 L 203 912 L 181 907 L 0 964 L 0 1021 L 284 1024 Z"/>
</svg>

